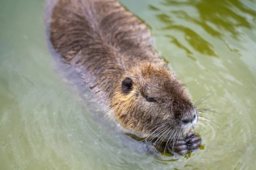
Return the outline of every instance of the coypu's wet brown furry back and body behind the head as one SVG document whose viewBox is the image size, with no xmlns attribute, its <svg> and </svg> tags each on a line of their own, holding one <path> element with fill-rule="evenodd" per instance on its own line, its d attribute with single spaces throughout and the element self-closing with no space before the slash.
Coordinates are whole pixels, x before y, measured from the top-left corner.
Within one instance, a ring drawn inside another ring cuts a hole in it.
<svg viewBox="0 0 256 170">
<path fill-rule="evenodd" d="M 56 1 L 47 7 L 51 43 L 91 88 L 110 93 L 137 62 L 161 62 L 148 27 L 116 0 Z"/>
</svg>

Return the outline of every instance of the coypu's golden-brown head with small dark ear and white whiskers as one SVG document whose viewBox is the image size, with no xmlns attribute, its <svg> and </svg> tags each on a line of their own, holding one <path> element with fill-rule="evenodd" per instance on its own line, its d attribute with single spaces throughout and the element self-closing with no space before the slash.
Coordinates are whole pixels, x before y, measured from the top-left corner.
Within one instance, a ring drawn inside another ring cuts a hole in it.
<svg viewBox="0 0 256 170">
<path fill-rule="evenodd" d="M 114 91 L 111 107 L 122 127 L 148 136 L 182 136 L 198 123 L 185 86 L 169 70 L 154 64 L 128 70 Z"/>
</svg>

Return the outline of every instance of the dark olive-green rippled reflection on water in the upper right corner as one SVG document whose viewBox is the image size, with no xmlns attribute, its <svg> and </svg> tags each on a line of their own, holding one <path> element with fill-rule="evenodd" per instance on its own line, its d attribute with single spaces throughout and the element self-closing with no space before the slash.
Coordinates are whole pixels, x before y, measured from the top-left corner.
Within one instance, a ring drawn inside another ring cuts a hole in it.
<svg viewBox="0 0 256 170">
<path fill-rule="evenodd" d="M 210 36 L 218 38 L 224 42 L 225 45 L 232 52 L 238 52 L 236 48 L 230 48 L 230 46 L 224 40 L 223 31 L 225 36 L 230 34 L 230 37 L 239 41 L 242 32 L 239 28 L 244 27 L 252 29 L 251 23 L 248 21 L 249 18 L 254 18 L 256 12 L 253 9 L 246 6 L 239 0 L 188 0 L 188 1 L 175 1 L 165 0 L 161 2 L 165 6 L 186 6 L 193 7 L 196 9 L 197 16 L 192 17 L 186 11 L 183 10 L 172 10 L 170 14 L 157 14 L 157 18 L 166 24 L 163 28 L 175 29 L 182 32 L 186 41 L 189 45 L 201 54 L 218 57 L 215 53 L 213 46 L 204 40 L 200 34 L 196 33 L 198 30 L 192 30 L 189 26 L 178 25 L 171 17 L 175 16 L 177 19 L 186 20 L 186 22 L 193 23 L 204 29 Z M 158 8 L 149 6 L 150 9 L 156 10 Z M 159 9 L 158 9 L 159 10 Z M 243 14 L 239 14 L 238 11 L 242 11 Z M 186 51 L 187 54 L 191 54 L 188 48 L 178 42 L 173 36 L 167 36 L 171 38 L 171 42 Z M 193 58 L 194 59 L 194 58 Z"/>
</svg>

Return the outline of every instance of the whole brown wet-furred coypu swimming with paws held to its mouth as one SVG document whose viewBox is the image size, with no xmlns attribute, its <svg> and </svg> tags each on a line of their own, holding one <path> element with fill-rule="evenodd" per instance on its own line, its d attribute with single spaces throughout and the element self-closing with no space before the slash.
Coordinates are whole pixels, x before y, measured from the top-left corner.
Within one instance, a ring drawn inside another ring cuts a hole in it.
<svg viewBox="0 0 256 170">
<path fill-rule="evenodd" d="M 190 133 L 198 111 L 145 23 L 116 0 L 50 0 L 47 10 L 53 48 L 124 131 L 165 143 L 164 152 L 200 147 L 201 137 Z"/>
</svg>

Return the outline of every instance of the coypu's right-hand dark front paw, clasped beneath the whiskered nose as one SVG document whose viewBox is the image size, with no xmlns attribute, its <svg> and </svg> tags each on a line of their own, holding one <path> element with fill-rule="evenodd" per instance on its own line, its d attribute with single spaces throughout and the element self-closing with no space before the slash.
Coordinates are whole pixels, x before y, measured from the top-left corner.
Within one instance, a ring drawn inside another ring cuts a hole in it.
<svg viewBox="0 0 256 170">
<path fill-rule="evenodd" d="M 190 152 L 196 151 L 201 146 L 201 137 L 197 136 L 195 133 L 189 133 L 186 135 L 186 144 L 189 146 L 188 150 Z"/>
</svg>

